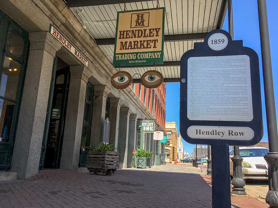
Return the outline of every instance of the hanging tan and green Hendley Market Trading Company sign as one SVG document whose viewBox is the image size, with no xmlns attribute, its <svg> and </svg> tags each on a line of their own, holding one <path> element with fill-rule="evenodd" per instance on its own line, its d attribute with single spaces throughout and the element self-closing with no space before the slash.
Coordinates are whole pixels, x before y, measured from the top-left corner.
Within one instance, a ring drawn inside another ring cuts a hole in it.
<svg viewBox="0 0 278 208">
<path fill-rule="evenodd" d="M 165 8 L 118 12 L 113 66 L 163 64 Z"/>
</svg>

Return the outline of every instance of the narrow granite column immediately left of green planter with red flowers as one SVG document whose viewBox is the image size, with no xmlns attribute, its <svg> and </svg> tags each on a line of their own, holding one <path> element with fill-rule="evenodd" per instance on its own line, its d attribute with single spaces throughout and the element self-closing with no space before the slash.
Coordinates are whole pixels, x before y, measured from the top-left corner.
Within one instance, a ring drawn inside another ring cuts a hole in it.
<svg viewBox="0 0 278 208">
<path fill-rule="evenodd" d="M 128 130 L 128 145 L 127 145 L 127 168 L 132 167 L 133 155 L 131 152 L 135 150 L 136 146 L 136 125 L 137 114 L 130 114 L 129 116 L 129 130 Z"/>
</svg>

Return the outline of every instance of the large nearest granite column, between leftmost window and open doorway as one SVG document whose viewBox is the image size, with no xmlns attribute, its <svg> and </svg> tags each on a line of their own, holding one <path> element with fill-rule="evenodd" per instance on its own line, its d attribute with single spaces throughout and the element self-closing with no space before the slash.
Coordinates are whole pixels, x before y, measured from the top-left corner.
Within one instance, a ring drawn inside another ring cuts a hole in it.
<svg viewBox="0 0 278 208">
<path fill-rule="evenodd" d="M 11 171 L 18 179 L 39 170 L 53 60 L 62 44 L 49 32 L 30 32 L 30 49 L 21 99 Z"/>
</svg>

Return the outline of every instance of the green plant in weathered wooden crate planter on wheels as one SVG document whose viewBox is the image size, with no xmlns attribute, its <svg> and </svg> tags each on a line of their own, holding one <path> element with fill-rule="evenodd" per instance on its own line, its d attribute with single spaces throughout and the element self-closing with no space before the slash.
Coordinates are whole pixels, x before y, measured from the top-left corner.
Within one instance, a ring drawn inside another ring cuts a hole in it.
<svg viewBox="0 0 278 208">
<path fill-rule="evenodd" d="M 119 153 L 115 152 L 112 144 L 90 145 L 87 147 L 86 168 L 97 175 L 98 172 L 104 172 L 111 175 L 119 168 Z"/>
</svg>

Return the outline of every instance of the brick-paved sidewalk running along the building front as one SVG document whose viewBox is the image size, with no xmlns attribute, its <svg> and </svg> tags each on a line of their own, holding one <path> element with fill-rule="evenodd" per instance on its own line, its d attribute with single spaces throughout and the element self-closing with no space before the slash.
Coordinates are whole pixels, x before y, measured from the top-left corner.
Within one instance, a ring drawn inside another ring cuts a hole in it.
<svg viewBox="0 0 278 208">
<path fill-rule="evenodd" d="M 172 164 L 118 170 L 112 176 L 43 170 L 28 180 L 1 181 L 0 207 L 211 207 L 211 181 L 197 173 L 199 168 Z M 237 205 L 242 200 L 237 198 Z M 259 207 L 264 206 L 252 206 Z"/>
</svg>

